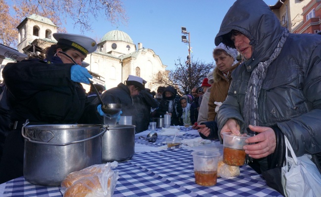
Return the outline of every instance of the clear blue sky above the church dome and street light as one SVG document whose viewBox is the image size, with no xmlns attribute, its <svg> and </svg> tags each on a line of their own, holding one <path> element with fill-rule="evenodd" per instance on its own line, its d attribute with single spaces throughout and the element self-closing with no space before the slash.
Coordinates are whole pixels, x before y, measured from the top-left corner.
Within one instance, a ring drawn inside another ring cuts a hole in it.
<svg viewBox="0 0 321 197">
<path fill-rule="evenodd" d="M 188 43 L 181 41 L 181 27 L 191 36 L 192 61 L 213 62 L 214 38 L 228 9 L 235 0 L 122 0 L 129 18 L 128 25 L 114 25 L 104 19 L 93 22 L 93 32 L 84 33 L 102 38 L 107 32 L 127 33 L 134 44 L 153 49 L 167 70 L 175 69 L 175 61 L 186 61 Z M 278 0 L 264 0 L 274 5 Z M 66 25 L 68 33 L 79 34 L 72 21 Z"/>
</svg>

